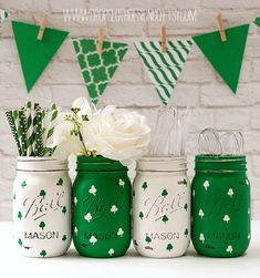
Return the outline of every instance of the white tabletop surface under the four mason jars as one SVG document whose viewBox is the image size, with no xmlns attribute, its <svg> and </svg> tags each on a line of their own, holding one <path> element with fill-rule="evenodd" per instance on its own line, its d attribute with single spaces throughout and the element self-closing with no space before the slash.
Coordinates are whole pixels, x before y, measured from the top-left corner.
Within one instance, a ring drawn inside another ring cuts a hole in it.
<svg viewBox="0 0 260 278">
<path fill-rule="evenodd" d="M 252 222 L 247 254 L 232 259 L 199 257 L 193 246 L 186 256 L 171 259 L 141 257 L 133 247 L 126 256 L 110 259 L 80 257 L 73 247 L 62 257 L 25 258 L 15 253 L 13 241 L 12 224 L 0 222 L 0 278 L 254 278 L 260 275 L 260 222 Z"/>
</svg>

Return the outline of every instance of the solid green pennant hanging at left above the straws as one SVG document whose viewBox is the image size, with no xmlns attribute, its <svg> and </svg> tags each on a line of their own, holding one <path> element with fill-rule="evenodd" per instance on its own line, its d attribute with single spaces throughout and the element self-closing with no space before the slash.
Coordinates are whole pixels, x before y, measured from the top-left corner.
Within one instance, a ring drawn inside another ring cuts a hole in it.
<svg viewBox="0 0 260 278">
<path fill-rule="evenodd" d="M 45 28 L 41 41 L 39 25 L 12 21 L 13 35 L 20 56 L 28 92 L 31 91 L 69 32 Z"/>
</svg>

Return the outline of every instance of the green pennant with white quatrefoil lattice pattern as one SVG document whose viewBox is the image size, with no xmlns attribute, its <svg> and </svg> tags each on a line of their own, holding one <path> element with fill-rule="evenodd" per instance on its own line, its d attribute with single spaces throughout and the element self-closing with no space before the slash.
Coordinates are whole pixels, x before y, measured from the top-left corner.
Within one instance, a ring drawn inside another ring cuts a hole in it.
<svg viewBox="0 0 260 278">
<path fill-rule="evenodd" d="M 101 54 L 97 53 L 97 43 L 93 39 L 73 39 L 73 45 L 89 94 L 96 104 L 127 52 L 128 45 L 104 41 Z"/>
</svg>

